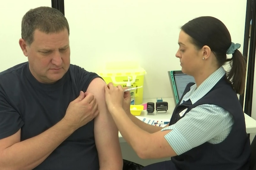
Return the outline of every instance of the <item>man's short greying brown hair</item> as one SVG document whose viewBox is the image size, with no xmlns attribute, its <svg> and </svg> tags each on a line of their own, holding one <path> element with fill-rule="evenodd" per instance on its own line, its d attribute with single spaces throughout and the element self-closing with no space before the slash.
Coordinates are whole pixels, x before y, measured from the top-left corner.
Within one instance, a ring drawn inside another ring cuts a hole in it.
<svg viewBox="0 0 256 170">
<path fill-rule="evenodd" d="M 34 41 L 34 31 L 36 29 L 45 33 L 58 33 L 65 28 L 69 34 L 67 19 L 59 10 L 51 7 L 38 7 L 30 9 L 23 16 L 21 38 L 29 46 Z"/>
</svg>

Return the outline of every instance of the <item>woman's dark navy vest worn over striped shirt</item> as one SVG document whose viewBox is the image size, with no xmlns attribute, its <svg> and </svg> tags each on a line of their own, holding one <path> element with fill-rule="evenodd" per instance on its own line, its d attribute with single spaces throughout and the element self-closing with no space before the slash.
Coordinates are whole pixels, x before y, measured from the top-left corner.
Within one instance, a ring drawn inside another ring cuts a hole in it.
<svg viewBox="0 0 256 170">
<path fill-rule="evenodd" d="M 195 83 L 189 83 L 183 96 Z M 182 100 L 181 98 L 181 100 Z M 182 119 L 192 108 L 202 104 L 214 104 L 222 107 L 233 115 L 234 124 L 227 138 L 219 144 L 203 143 L 200 146 L 171 158 L 178 170 L 248 170 L 250 157 L 250 142 L 246 134 L 244 112 L 233 90 L 232 84 L 223 76 L 221 80 L 200 100 L 177 104 L 173 111 L 170 124 Z M 187 108 L 184 115 L 179 113 Z M 189 126 L 189 124 L 187 125 Z"/>
</svg>

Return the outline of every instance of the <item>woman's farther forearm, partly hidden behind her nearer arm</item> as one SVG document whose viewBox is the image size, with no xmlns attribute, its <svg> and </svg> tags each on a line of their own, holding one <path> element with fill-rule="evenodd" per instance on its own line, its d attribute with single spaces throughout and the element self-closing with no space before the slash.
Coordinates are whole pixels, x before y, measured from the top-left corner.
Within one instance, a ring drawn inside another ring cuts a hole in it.
<svg viewBox="0 0 256 170">
<path fill-rule="evenodd" d="M 138 119 L 137 117 L 133 116 L 130 112 L 127 113 L 127 115 L 132 120 L 133 123 L 135 123 L 138 127 L 140 127 L 141 129 L 145 130 L 146 132 L 154 133 L 154 132 L 158 132 L 159 130 L 162 129 L 162 127 L 153 126 L 151 124 L 147 124 L 145 122 L 142 122 L 140 119 Z"/>
</svg>

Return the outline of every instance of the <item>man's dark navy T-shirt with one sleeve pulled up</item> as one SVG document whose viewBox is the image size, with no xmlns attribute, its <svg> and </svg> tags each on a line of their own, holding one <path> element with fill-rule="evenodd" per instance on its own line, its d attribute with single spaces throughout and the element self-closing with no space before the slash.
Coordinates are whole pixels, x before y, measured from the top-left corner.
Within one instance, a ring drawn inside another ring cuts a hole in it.
<svg viewBox="0 0 256 170">
<path fill-rule="evenodd" d="M 69 103 L 81 90 L 85 92 L 96 77 L 99 77 L 96 73 L 72 64 L 53 84 L 38 82 L 28 62 L 1 72 L 0 139 L 21 129 L 23 141 L 49 129 L 64 117 Z M 99 169 L 94 121 L 77 129 L 35 169 Z"/>
</svg>

